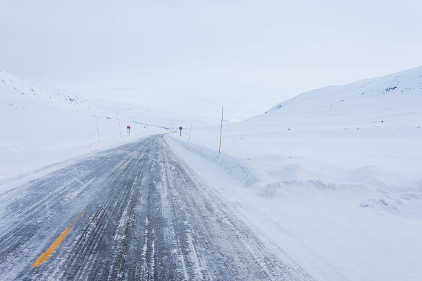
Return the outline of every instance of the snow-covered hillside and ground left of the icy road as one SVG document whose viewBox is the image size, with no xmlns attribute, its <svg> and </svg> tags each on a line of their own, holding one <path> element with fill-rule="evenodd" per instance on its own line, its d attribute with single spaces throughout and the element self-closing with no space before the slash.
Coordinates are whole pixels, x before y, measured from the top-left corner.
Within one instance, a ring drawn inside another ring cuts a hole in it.
<svg viewBox="0 0 422 281">
<path fill-rule="evenodd" d="M 0 180 L 146 134 L 171 132 L 192 120 L 218 123 L 217 118 L 88 101 L 0 71 Z"/>
</svg>

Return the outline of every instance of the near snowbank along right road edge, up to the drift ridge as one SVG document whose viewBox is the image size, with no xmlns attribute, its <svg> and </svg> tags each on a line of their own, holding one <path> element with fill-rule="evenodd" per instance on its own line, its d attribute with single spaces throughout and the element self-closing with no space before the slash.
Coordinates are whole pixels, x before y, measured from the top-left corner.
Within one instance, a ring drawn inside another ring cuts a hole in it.
<svg viewBox="0 0 422 281">
<path fill-rule="evenodd" d="M 285 179 L 268 183 L 261 176 L 270 171 L 257 176 L 233 156 L 170 136 L 166 140 L 281 260 L 292 258 L 316 280 L 416 281 L 422 275 L 421 189 L 392 192 L 359 177 L 326 180 L 300 165 L 283 167 L 278 176 Z"/>
</svg>

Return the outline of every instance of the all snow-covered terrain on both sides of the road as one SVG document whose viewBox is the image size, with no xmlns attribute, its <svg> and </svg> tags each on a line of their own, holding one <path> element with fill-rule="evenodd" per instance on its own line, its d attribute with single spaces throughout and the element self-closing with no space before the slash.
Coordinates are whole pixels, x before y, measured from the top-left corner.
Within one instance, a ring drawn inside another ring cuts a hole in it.
<svg viewBox="0 0 422 281">
<path fill-rule="evenodd" d="M 0 182 L 193 120 L 190 143 L 188 129 L 166 140 L 282 260 L 316 280 L 421 280 L 421 106 L 422 67 L 325 87 L 224 123 L 219 155 L 217 120 L 88 101 L 1 71 Z"/>
</svg>

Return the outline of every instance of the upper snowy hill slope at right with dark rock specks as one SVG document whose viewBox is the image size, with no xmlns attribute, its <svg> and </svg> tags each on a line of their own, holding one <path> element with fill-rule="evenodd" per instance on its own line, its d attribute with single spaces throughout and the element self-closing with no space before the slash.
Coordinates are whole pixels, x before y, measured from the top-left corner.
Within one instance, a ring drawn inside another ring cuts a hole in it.
<svg viewBox="0 0 422 281">
<path fill-rule="evenodd" d="M 399 116 L 420 116 L 422 67 L 388 76 L 330 86 L 299 94 L 270 108 L 266 114 L 320 122 L 314 117 L 331 117 L 331 123 L 376 123 Z M 332 117 L 336 118 L 332 118 Z"/>
</svg>

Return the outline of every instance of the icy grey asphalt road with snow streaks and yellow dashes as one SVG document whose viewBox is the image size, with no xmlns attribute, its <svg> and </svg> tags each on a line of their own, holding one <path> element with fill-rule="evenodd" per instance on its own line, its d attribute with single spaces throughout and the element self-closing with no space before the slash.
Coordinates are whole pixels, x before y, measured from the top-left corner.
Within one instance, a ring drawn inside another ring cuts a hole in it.
<svg viewBox="0 0 422 281">
<path fill-rule="evenodd" d="M 0 280 L 309 280 L 162 135 L 0 194 Z"/>
</svg>

